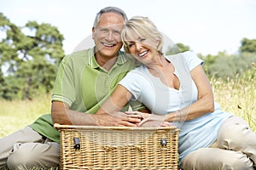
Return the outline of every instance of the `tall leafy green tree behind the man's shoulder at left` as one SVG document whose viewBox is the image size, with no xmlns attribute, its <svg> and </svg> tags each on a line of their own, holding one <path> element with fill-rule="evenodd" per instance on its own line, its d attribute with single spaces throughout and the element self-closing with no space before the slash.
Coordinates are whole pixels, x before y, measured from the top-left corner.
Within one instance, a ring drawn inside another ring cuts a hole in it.
<svg viewBox="0 0 256 170">
<path fill-rule="evenodd" d="M 0 14 L 0 64 L 6 70 L 2 97 L 31 99 L 53 88 L 57 65 L 64 56 L 64 37 L 55 26 L 29 21 L 18 27 Z M 26 33 L 24 33 L 26 32 Z M 8 80 L 8 81 L 7 81 Z"/>
</svg>

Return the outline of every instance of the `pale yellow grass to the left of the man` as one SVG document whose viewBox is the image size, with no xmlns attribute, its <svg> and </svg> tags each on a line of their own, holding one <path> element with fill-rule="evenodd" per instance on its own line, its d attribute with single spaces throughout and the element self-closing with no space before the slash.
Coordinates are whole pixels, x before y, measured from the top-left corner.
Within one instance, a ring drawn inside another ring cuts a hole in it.
<svg viewBox="0 0 256 170">
<path fill-rule="evenodd" d="M 31 124 L 45 113 L 50 113 L 49 94 L 33 100 L 0 100 L 0 138 Z"/>
</svg>

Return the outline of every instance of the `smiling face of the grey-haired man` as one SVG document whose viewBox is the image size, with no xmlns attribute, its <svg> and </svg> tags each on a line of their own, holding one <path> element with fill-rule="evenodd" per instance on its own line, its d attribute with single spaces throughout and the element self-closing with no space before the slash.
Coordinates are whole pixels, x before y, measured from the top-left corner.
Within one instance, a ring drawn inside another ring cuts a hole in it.
<svg viewBox="0 0 256 170">
<path fill-rule="evenodd" d="M 98 26 L 92 29 L 92 37 L 96 44 L 96 56 L 112 59 L 122 48 L 121 31 L 124 19 L 115 13 L 102 14 Z"/>
</svg>

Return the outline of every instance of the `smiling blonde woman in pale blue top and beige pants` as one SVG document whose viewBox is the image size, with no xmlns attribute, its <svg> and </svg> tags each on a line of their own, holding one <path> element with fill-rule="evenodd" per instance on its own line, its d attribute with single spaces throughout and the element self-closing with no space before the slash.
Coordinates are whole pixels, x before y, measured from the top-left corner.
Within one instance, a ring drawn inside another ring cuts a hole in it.
<svg viewBox="0 0 256 170">
<path fill-rule="evenodd" d="M 130 99 L 137 99 L 154 113 L 136 112 L 144 118 L 138 126 L 172 122 L 181 129 L 178 151 L 183 169 L 255 168 L 255 133 L 214 102 L 203 61 L 196 54 L 164 56 L 163 37 L 145 17 L 128 20 L 122 40 L 125 51 L 143 65 L 119 82 L 98 113 L 119 111 Z"/>
</svg>

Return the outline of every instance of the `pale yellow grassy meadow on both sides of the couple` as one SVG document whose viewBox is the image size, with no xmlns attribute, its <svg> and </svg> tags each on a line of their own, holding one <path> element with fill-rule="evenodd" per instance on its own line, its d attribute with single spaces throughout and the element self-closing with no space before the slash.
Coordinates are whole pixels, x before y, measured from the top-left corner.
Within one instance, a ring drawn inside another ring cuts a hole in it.
<svg viewBox="0 0 256 170">
<path fill-rule="evenodd" d="M 253 78 L 210 79 L 215 100 L 224 111 L 241 116 L 256 132 L 256 88 Z M 33 100 L 0 100 L 0 138 L 50 113 L 50 94 Z"/>
</svg>

